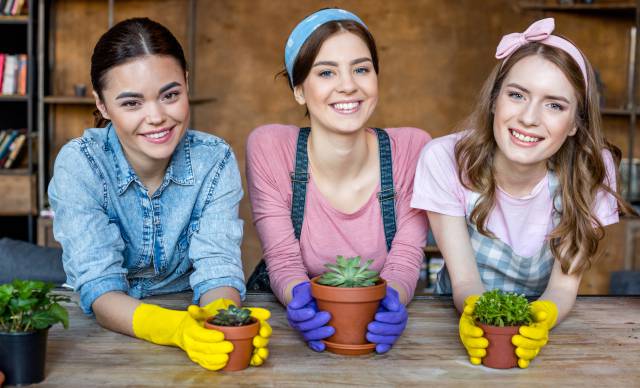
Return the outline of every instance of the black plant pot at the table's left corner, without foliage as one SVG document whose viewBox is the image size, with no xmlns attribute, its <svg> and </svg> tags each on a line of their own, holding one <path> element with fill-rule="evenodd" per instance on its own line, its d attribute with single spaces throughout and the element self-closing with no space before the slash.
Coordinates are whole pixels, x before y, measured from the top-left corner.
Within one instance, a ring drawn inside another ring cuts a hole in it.
<svg viewBox="0 0 640 388">
<path fill-rule="evenodd" d="M 34 384 L 44 380 L 48 329 L 29 333 L 0 333 L 0 370 L 5 384 Z"/>
</svg>

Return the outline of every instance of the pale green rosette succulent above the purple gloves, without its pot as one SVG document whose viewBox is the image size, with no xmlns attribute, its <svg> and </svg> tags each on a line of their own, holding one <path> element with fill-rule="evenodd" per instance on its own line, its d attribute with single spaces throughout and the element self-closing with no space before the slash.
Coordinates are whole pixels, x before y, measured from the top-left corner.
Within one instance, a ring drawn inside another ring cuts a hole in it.
<svg viewBox="0 0 640 388">
<path fill-rule="evenodd" d="M 325 272 L 318 283 L 332 287 L 369 287 L 374 286 L 380 277 L 378 272 L 369 270 L 373 260 L 367 260 L 360 264 L 360 256 L 345 259 L 338 256 L 336 264 L 325 264 L 329 269 Z"/>
</svg>

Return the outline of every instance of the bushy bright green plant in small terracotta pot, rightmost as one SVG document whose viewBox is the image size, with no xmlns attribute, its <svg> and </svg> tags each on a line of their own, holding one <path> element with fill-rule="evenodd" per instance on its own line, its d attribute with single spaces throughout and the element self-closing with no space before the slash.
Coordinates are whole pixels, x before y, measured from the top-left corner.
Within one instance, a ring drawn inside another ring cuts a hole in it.
<svg viewBox="0 0 640 388">
<path fill-rule="evenodd" d="M 489 341 L 482 364 L 496 369 L 514 368 L 518 356 L 511 337 L 518 334 L 521 325 L 533 321 L 527 298 L 498 289 L 487 291 L 478 298 L 473 316 Z"/>
</svg>

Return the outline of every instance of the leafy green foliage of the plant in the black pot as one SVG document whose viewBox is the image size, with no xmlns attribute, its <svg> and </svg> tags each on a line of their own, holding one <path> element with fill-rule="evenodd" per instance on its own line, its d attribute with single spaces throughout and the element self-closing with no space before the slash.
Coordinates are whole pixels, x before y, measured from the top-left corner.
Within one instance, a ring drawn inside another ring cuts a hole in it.
<svg viewBox="0 0 640 388">
<path fill-rule="evenodd" d="M 53 284 L 15 279 L 0 285 L 0 332 L 46 329 L 56 323 L 69 327 L 69 314 L 58 302 L 69 298 L 52 294 Z"/>
</svg>

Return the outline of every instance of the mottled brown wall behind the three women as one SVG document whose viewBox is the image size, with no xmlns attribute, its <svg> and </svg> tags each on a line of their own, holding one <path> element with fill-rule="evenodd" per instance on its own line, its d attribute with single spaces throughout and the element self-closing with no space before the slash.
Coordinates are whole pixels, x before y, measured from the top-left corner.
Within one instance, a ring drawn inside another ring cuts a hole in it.
<svg viewBox="0 0 640 388">
<path fill-rule="evenodd" d="M 305 124 L 304 110 L 293 100 L 286 80 L 274 80 L 274 75 L 282 68 L 284 42 L 295 24 L 319 8 L 338 6 L 358 14 L 378 43 L 380 102 L 370 124 L 415 126 L 442 136 L 470 112 L 496 63 L 493 55 L 500 37 L 522 31 L 542 15 L 523 12 L 517 4 L 511 0 L 200 0 L 193 86 L 196 96 L 215 101 L 194 107 L 192 126 L 226 139 L 244 172 L 245 140 L 254 127 Z M 54 15 L 53 92 L 70 95 L 74 83 L 90 84 L 89 59 L 107 26 L 106 1 L 61 0 L 55 2 Z M 179 0 L 119 1 L 115 8 L 116 22 L 148 16 L 171 29 L 185 49 L 187 15 L 188 3 Z M 570 36 L 602 68 L 608 105 L 622 104 L 626 30 L 632 20 L 553 16 L 557 31 Z M 91 126 L 91 110 L 56 108 L 55 150 Z M 624 119 L 607 123 L 613 140 L 626 146 Z M 243 259 L 248 272 L 261 250 L 247 198 L 241 216 L 246 221 Z"/>
</svg>

